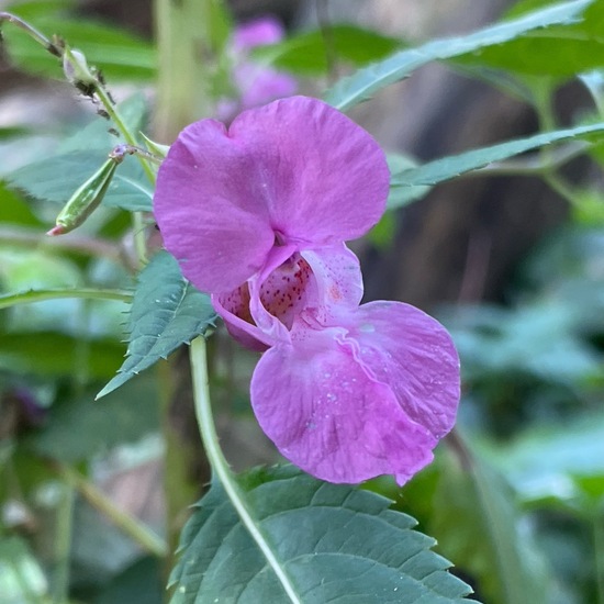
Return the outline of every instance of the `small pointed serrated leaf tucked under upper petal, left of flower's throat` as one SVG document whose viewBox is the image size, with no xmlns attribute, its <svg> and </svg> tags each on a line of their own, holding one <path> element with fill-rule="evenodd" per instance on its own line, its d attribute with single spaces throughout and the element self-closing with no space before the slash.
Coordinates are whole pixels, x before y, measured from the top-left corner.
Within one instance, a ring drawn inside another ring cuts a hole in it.
<svg viewBox="0 0 604 604">
<path fill-rule="evenodd" d="M 214 326 L 210 298 L 187 281 L 176 259 L 159 251 L 141 272 L 128 317 L 127 358 L 97 398 L 165 359 Z"/>
</svg>

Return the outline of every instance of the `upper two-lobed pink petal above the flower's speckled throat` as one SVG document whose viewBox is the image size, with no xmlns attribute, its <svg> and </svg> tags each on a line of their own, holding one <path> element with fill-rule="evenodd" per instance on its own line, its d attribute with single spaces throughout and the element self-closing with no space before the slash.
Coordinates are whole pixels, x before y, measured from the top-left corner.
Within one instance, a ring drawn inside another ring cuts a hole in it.
<svg viewBox="0 0 604 604">
<path fill-rule="evenodd" d="M 184 128 L 158 174 L 155 215 L 184 276 L 241 286 L 276 243 L 309 249 L 365 234 L 389 187 L 382 150 L 343 113 L 291 97 Z"/>
</svg>

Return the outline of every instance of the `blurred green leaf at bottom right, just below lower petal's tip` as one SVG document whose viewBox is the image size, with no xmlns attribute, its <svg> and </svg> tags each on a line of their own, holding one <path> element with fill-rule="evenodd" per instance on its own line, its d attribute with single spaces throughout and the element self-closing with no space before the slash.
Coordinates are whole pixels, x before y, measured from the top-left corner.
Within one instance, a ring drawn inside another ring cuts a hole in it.
<svg viewBox="0 0 604 604">
<path fill-rule="evenodd" d="M 469 469 L 444 457 L 439 470 L 429 528 L 441 536 L 441 551 L 472 572 L 490 604 L 555 602 L 552 578 L 503 477 L 474 456 Z"/>
</svg>

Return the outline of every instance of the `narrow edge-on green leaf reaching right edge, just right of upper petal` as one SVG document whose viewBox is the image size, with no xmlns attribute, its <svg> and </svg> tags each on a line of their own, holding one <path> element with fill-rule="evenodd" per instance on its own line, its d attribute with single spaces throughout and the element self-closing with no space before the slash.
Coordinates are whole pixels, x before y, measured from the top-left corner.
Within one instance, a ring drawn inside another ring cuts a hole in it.
<svg viewBox="0 0 604 604">
<path fill-rule="evenodd" d="M 494 161 L 503 161 L 521 153 L 536 149 L 552 143 L 568 141 L 570 138 L 588 137 L 591 134 L 604 132 L 604 122 L 584 126 L 577 126 L 567 130 L 557 130 L 536 134 L 527 138 L 519 138 L 472 149 L 459 155 L 451 155 L 434 161 L 428 161 L 417 168 L 407 168 L 401 172 L 392 175 L 391 187 L 401 187 L 409 189 L 409 194 L 414 192 L 418 186 L 433 186 L 445 180 L 449 180 L 466 172 L 484 168 Z M 488 175 L 488 172 L 485 172 Z M 401 199 L 405 199 L 401 193 Z"/>
</svg>

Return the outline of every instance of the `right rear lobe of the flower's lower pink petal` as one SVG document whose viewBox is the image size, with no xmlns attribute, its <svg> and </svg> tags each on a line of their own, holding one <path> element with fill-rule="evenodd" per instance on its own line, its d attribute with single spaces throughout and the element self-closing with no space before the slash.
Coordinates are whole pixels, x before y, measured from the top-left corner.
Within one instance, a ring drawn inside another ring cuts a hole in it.
<svg viewBox="0 0 604 604">
<path fill-rule="evenodd" d="M 349 315 L 356 357 L 390 385 L 405 414 L 435 438 L 455 424 L 459 357 L 435 318 L 402 302 L 370 302 Z"/>
</svg>

